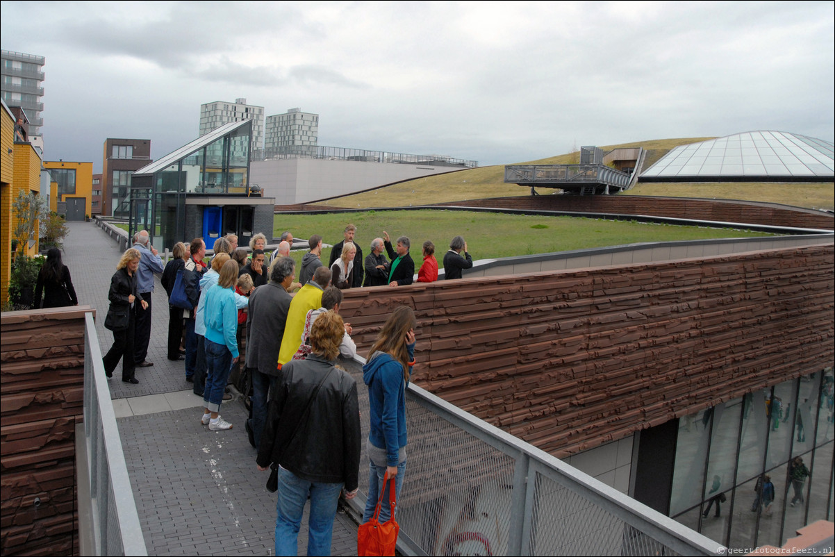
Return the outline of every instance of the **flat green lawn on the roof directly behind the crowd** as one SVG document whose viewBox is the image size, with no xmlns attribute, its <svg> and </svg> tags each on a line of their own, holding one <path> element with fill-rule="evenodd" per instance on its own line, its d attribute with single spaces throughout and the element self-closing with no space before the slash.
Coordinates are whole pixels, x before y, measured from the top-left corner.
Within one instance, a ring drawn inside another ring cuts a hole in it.
<svg viewBox="0 0 835 557">
<path fill-rule="evenodd" d="M 387 230 L 392 242 L 406 235 L 412 243 L 412 258 L 419 266 L 423 241 L 435 244 L 438 266 L 443 268 L 443 254 L 454 235 L 463 235 L 473 259 L 526 256 L 551 251 L 580 250 L 618 246 L 635 242 L 681 241 L 711 238 L 740 238 L 768 235 L 751 230 L 701 228 L 698 226 L 653 225 L 618 220 L 583 219 L 568 216 L 502 215 L 453 210 L 369 210 L 362 213 L 327 215 L 284 215 L 275 217 L 274 237 L 290 230 L 296 239 L 319 234 L 326 244 L 342 241 L 342 230 L 357 226 L 357 242 L 363 256 L 370 252 L 371 241 Z M 293 251 L 296 261 L 306 251 Z M 330 248 L 322 251 L 327 263 Z"/>
</svg>

